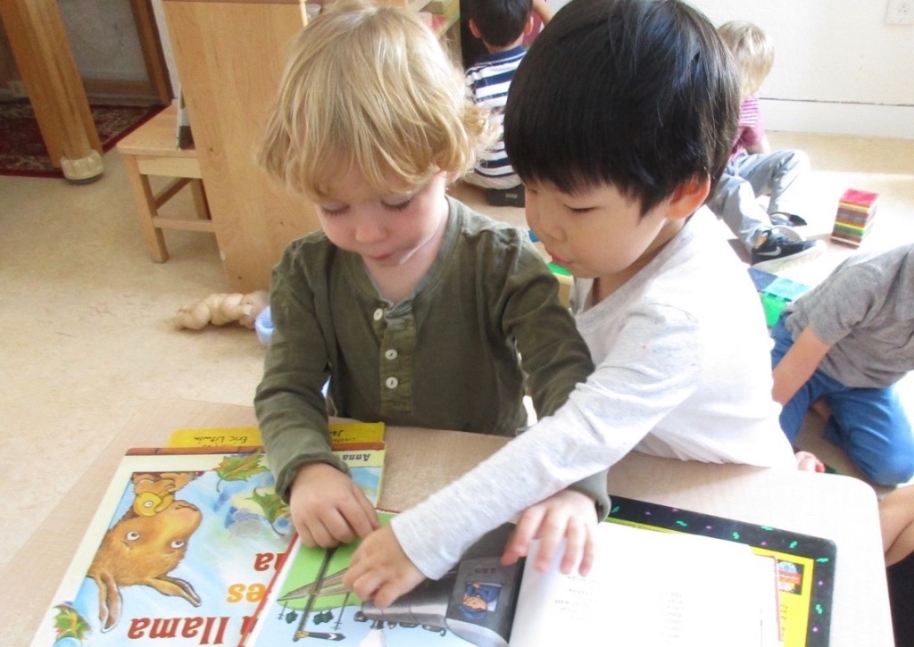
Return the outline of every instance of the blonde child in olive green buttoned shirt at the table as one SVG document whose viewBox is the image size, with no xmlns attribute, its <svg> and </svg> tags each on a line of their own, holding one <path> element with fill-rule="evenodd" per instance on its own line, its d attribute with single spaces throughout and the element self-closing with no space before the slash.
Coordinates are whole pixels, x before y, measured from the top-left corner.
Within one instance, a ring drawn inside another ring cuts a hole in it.
<svg viewBox="0 0 914 647">
<path fill-rule="evenodd" d="M 377 527 L 330 451 L 328 408 L 512 436 L 526 426 L 525 387 L 546 417 L 593 368 L 525 233 L 445 195 L 489 142 L 464 91 L 406 9 L 328 5 L 292 46 L 261 161 L 316 203 L 321 230 L 273 270 L 254 405 L 306 545 Z M 577 487 L 591 515 L 595 501 L 605 509 L 605 474 Z"/>
</svg>

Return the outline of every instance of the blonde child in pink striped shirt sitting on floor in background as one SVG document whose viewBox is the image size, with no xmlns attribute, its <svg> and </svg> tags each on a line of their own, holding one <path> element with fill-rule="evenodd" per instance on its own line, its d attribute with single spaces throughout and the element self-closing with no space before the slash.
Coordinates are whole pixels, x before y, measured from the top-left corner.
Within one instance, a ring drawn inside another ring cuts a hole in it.
<svg viewBox="0 0 914 647">
<path fill-rule="evenodd" d="M 793 225 L 797 191 L 809 172 L 809 157 L 799 150 L 771 151 L 761 119 L 757 92 L 774 65 L 774 45 L 758 26 L 733 20 L 717 27 L 739 69 L 739 128 L 733 150 L 708 205 L 749 252 L 759 270 L 777 271 L 813 260 L 824 250 L 821 240 L 806 240 Z M 759 196 L 769 196 L 768 209 Z"/>
</svg>

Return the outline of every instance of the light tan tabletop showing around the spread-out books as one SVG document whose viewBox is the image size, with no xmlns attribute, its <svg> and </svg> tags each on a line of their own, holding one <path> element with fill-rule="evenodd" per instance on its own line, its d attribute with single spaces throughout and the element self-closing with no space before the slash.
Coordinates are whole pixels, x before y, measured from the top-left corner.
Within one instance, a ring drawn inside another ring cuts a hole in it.
<svg viewBox="0 0 914 647">
<path fill-rule="evenodd" d="M 131 447 L 162 444 L 185 427 L 250 427 L 253 409 L 182 399 L 150 401 L 101 450 L 99 458 L 5 568 L 0 627 L 4 643 L 27 645 L 94 503 Z M 458 431 L 388 428 L 379 506 L 403 509 L 497 450 L 505 439 Z M 877 499 L 856 479 L 834 474 L 710 465 L 633 453 L 614 466 L 610 493 L 833 539 L 837 546 L 833 647 L 893 644 Z M 15 583 L 15 584 L 14 584 Z"/>
</svg>

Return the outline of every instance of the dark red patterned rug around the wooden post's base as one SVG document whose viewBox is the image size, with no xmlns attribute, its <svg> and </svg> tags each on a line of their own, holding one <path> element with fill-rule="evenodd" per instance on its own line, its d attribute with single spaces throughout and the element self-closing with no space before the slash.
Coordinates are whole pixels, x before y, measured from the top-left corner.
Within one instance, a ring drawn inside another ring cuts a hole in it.
<svg viewBox="0 0 914 647">
<path fill-rule="evenodd" d="M 108 152 L 162 106 L 90 105 L 101 148 Z M 51 165 L 48 149 L 27 99 L 0 101 L 0 175 L 63 177 Z"/>
</svg>

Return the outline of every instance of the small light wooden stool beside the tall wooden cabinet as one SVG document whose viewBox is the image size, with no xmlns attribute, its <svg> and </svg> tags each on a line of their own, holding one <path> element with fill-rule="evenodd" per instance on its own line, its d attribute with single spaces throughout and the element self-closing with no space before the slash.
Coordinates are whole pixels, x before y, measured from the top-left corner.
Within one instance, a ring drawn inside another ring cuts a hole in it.
<svg viewBox="0 0 914 647">
<path fill-rule="evenodd" d="M 193 148 L 177 147 L 177 107 L 171 105 L 143 123 L 117 143 L 127 167 L 127 177 L 133 188 L 140 227 L 149 246 L 149 254 L 157 263 L 168 260 L 163 229 L 189 229 L 216 233 L 209 217 L 207 196 L 200 179 L 200 164 Z M 150 175 L 174 177 L 158 193 L 149 183 Z M 158 209 L 185 186 L 194 193 L 196 217 L 162 217 Z"/>
</svg>

